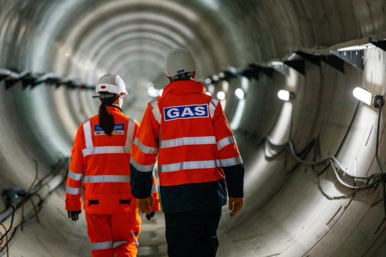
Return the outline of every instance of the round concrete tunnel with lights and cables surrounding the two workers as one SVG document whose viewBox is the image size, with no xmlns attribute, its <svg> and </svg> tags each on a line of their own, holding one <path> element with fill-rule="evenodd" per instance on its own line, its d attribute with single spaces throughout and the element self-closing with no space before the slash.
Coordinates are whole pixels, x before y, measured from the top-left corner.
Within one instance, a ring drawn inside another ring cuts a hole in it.
<svg viewBox="0 0 386 257">
<path fill-rule="evenodd" d="M 97 114 L 97 79 L 119 74 L 124 114 L 140 122 L 176 47 L 220 100 L 245 165 L 244 208 L 230 218 L 223 207 L 217 256 L 386 256 L 385 9 L 0 0 L 0 256 L 91 256 L 84 212 L 68 219 L 62 182 L 78 127 Z M 142 220 L 138 256 L 167 256 L 162 212 Z"/>
</svg>

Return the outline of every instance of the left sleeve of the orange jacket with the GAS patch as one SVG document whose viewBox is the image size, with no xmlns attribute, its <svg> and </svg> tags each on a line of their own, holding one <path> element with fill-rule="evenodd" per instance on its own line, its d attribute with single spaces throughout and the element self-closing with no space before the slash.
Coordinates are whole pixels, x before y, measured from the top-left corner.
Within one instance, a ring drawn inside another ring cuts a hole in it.
<svg viewBox="0 0 386 257">
<path fill-rule="evenodd" d="M 131 194 L 139 199 L 149 197 L 153 186 L 157 185 L 153 169 L 158 154 L 160 123 L 154 116 L 154 108 L 158 110 L 158 105 L 153 107 L 148 104 L 134 139 L 130 159 Z"/>
</svg>

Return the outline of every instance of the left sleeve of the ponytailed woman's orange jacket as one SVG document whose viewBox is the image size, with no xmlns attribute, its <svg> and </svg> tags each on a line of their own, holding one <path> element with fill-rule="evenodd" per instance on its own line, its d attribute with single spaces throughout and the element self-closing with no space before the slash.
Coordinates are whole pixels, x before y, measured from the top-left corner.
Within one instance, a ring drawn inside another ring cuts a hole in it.
<svg viewBox="0 0 386 257">
<path fill-rule="evenodd" d="M 68 170 L 67 187 L 66 187 L 66 210 L 81 210 L 82 209 L 82 178 L 85 171 L 83 161 L 83 140 L 84 140 L 83 124 L 79 127 L 76 133 L 75 141 L 71 150 L 71 161 Z"/>
</svg>

